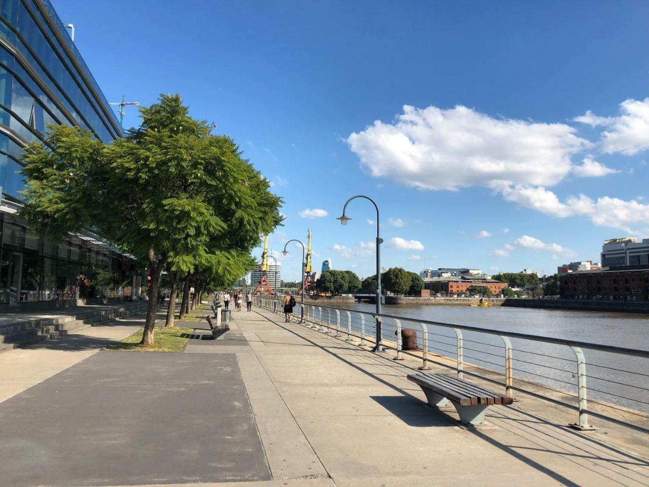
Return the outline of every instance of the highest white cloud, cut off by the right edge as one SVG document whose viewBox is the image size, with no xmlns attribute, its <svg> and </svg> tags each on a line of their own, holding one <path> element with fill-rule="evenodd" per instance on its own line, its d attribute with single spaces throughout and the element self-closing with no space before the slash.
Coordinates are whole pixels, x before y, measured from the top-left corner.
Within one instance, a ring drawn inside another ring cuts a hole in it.
<svg viewBox="0 0 649 487">
<path fill-rule="evenodd" d="M 600 117 L 588 110 L 574 121 L 608 129 L 602 132 L 602 152 L 633 155 L 649 149 L 649 98 L 623 101 L 617 117 Z"/>
</svg>

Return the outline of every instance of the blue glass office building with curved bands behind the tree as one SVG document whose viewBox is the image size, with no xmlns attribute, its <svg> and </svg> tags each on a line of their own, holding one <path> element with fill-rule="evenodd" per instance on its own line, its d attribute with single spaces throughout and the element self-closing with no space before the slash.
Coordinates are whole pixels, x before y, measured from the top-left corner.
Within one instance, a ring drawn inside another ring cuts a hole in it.
<svg viewBox="0 0 649 487">
<path fill-rule="evenodd" d="M 121 127 L 49 0 L 0 0 L 0 310 L 29 301 L 136 293 L 135 262 L 96 235 L 53 243 L 16 216 L 23 147 L 47 125 L 77 125 L 104 142 Z"/>
</svg>

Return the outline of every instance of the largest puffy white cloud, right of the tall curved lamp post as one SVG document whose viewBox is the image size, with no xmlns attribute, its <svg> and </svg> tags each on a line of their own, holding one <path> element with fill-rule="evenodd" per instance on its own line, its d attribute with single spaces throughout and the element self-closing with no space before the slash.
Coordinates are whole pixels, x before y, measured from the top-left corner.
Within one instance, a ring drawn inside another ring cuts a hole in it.
<svg viewBox="0 0 649 487">
<path fill-rule="evenodd" d="M 394 123 L 374 121 L 347 143 L 374 177 L 457 190 L 490 181 L 549 185 L 565 178 L 570 156 L 591 143 L 564 123 L 497 119 L 456 106 L 404 106 Z"/>
</svg>

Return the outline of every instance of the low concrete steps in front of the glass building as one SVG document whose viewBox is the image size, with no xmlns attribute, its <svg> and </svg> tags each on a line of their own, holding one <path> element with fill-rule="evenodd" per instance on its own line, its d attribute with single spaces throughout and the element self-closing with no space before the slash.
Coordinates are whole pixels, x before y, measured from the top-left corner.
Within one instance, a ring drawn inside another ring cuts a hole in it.
<svg viewBox="0 0 649 487">
<path fill-rule="evenodd" d="M 84 328 L 102 325 L 116 318 L 143 314 L 147 311 L 146 301 L 125 302 L 101 310 L 84 310 L 56 318 L 21 319 L 0 324 L 0 352 L 29 343 L 51 340 Z"/>
</svg>

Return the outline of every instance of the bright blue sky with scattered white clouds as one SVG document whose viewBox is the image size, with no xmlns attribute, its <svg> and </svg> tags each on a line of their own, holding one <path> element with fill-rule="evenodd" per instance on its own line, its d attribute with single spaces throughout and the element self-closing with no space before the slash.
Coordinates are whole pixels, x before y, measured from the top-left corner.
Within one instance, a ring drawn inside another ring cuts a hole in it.
<svg viewBox="0 0 649 487">
<path fill-rule="evenodd" d="M 371 203 L 335 219 L 355 194 L 386 268 L 554 273 L 649 236 L 648 3 L 53 4 L 110 101 L 178 92 L 238 141 L 286 201 L 271 247 L 312 227 L 317 271 L 374 273 Z"/>
</svg>

